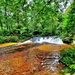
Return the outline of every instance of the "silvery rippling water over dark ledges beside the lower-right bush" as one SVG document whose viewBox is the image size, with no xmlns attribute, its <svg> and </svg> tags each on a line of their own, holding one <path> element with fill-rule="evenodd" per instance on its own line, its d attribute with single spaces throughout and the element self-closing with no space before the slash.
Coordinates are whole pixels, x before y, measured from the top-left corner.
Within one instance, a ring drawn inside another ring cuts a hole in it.
<svg viewBox="0 0 75 75">
<path fill-rule="evenodd" d="M 43 56 L 44 61 L 41 63 L 42 66 L 46 67 L 50 71 L 57 71 L 60 69 L 58 68 L 59 60 L 60 60 L 60 55 L 58 51 L 50 51 L 47 53 L 46 56 Z"/>
</svg>

